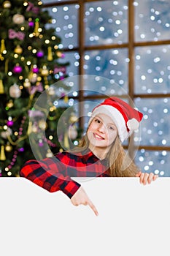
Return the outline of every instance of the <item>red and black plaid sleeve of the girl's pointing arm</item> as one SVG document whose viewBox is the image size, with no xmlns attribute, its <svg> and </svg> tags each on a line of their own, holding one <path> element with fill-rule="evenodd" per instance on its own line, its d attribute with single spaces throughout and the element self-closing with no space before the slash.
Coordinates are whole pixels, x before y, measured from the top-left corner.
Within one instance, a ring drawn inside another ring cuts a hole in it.
<svg viewBox="0 0 170 256">
<path fill-rule="evenodd" d="M 29 160 L 20 170 L 20 176 L 34 182 L 49 192 L 61 190 L 69 198 L 80 188 L 80 184 L 66 176 L 66 167 L 53 158 L 41 161 Z"/>
</svg>

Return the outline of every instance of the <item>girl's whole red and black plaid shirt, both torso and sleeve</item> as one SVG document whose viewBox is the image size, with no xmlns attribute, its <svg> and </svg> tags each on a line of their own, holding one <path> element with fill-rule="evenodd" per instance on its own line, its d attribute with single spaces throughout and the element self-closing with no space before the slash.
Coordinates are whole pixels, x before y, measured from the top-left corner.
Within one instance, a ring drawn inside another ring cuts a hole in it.
<svg viewBox="0 0 170 256">
<path fill-rule="evenodd" d="M 71 177 L 109 176 L 107 169 L 107 161 L 99 160 L 92 151 L 78 154 L 62 152 L 41 161 L 28 160 L 20 170 L 20 176 L 49 192 L 61 190 L 71 198 L 81 186 Z"/>
</svg>

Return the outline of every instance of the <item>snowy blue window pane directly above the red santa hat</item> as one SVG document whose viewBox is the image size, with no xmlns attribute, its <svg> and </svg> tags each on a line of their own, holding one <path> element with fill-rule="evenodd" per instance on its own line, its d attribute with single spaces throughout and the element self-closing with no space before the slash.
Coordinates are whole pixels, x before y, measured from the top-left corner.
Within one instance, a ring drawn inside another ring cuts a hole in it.
<svg viewBox="0 0 170 256">
<path fill-rule="evenodd" d="M 100 86 L 97 90 L 104 94 L 126 94 L 128 91 L 128 50 L 93 50 L 85 52 L 85 74 L 98 75 L 115 83 L 120 91 L 112 86 Z"/>
</svg>

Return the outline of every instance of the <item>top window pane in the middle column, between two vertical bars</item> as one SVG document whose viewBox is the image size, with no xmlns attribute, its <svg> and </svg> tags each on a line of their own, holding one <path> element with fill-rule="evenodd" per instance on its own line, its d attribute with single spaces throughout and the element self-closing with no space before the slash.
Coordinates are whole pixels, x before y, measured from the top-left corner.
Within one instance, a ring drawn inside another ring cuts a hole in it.
<svg viewBox="0 0 170 256">
<path fill-rule="evenodd" d="M 127 42 L 128 1 L 94 1 L 85 4 L 85 45 Z"/>
</svg>

